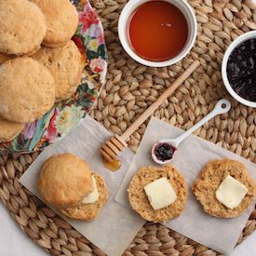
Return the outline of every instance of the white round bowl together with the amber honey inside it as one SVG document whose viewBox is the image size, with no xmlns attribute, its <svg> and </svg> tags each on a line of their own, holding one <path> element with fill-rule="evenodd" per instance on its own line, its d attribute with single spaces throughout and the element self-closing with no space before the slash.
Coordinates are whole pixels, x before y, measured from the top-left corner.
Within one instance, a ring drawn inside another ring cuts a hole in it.
<svg viewBox="0 0 256 256">
<path fill-rule="evenodd" d="M 166 67 L 181 61 L 195 44 L 197 23 L 185 0 L 130 0 L 119 21 L 119 39 L 135 61 Z"/>
</svg>

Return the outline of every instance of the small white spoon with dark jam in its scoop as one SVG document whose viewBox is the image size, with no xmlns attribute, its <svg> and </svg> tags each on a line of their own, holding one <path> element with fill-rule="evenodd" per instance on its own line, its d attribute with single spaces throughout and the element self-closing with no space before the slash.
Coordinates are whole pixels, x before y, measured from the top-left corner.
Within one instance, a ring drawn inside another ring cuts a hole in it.
<svg viewBox="0 0 256 256">
<path fill-rule="evenodd" d="M 195 132 L 197 128 L 202 127 L 211 118 L 213 118 L 216 115 L 227 113 L 230 110 L 230 108 L 231 103 L 225 99 L 222 99 L 216 103 L 214 109 L 209 113 L 209 115 L 206 115 L 198 123 L 196 123 L 194 127 L 189 128 L 177 138 L 172 140 L 161 140 L 155 142 L 151 151 L 151 155 L 155 163 L 160 165 L 168 164 L 171 161 L 173 154 L 178 149 L 178 146 L 182 141 L 184 141 L 190 134 Z"/>
</svg>

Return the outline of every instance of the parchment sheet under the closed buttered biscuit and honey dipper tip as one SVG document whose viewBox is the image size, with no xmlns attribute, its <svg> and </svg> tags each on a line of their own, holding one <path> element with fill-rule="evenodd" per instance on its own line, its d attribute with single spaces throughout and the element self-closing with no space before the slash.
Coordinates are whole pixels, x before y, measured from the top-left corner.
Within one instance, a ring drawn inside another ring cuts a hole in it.
<svg viewBox="0 0 256 256">
<path fill-rule="evenodd" d="M 22 175 L 20 182 L 40 198 L 36 183 L 39 170 L 48 157 L 70 152 L 86 159 L 90 168 L 103 176 L 110 191 L 110 198 L 95 221 L 66 221 L 105 253 L 117 256 L 127 249 L 144 221 L 133 214 L 131 209 L 127 209 L 114 200 L 133 154 L 129 150 L 122 154 L 123 165 L 117 172 L 111 172 L 104 168 L 99 148 L 109 136 L 110 133 L 105 128 L 88 116 L 67 137 L 48 146 Z"/>
</svg>

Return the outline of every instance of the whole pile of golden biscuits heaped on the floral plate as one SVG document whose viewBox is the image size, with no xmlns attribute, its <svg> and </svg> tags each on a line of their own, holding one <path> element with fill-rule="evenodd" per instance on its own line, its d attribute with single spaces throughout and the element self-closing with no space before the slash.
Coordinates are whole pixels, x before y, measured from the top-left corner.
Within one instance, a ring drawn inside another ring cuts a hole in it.
<svg viewBox="0 0 256 256">
<path fill-rule="evenodd" d="M 69 0 L 0 0 L 0 142 L 77 89 L 83 70 L 71 40 L 77 25 Z"/>
</svg>

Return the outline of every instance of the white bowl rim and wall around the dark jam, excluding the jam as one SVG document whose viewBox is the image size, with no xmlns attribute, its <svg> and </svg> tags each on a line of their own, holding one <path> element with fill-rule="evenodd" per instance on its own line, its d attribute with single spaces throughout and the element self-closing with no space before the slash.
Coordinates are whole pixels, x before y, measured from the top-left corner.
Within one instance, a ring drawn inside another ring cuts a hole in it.
<svg viewBox="0 0 256 256">
<path fill-rule="evenodd" d="M 241 96 L 239 96 L 236 91 L 231 87 L 228 78 L 227 78 L 227 62 L 228 59 L 230 57 L 230 54 L 233 52 L 233 50 L 238 47 L 240 44 L 242 44 L 243 42 L 251 39 L 251 38 L 256 38 L 256 31 L 250 31 L 248 33 L 245 34 L 241 34 L 239 35 L 235 41 L 233 41 L 229 47 L 227 47 L 224 56 L 223 56 L 223 60 L 222 60 L 222 80 L 224 83 L 225 88 L 227 89 L 227 91 L 230 93 L 230 95 L 236 99 L 236 101 L 239 101 L 240 103 L 249 106 L 249 107 L 253 107 L 256 108 L 256 102 L 255 101 L 248 101 L 245 100 L 244 98 L 242 98 Z"/>
</svg>

